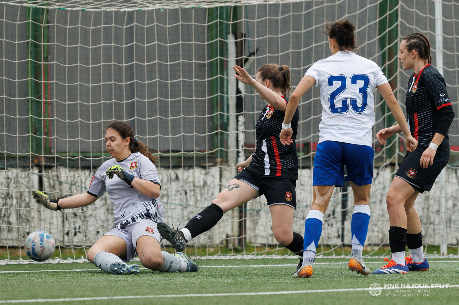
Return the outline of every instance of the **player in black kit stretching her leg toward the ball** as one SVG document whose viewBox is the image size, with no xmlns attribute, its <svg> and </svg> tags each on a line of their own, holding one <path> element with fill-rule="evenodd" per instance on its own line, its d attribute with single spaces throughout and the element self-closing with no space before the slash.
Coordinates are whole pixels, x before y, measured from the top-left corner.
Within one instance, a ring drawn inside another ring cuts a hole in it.
<svg viewBox="0 0 459 305">
<path fill-rule="evenodd" d="M 298 126 L 298 109 L 292 118 L 293 136 L 290 146 L 282 146 L 279 140 L 282 121 L 291 91 L 290 70 L 286 65 L 262 65 L 253 79 L 244 68 L 236 65 L 235 77 L 252 86 L 260 98 L 268 103 L 258 116 L 255 132 L 257 148 L 246 161 L 236 164 L 239 174 L 223 188 L 212 204 L 176 231 L 166 223 L 159 222 L 162 237 L 177 251 L 185 244 L 214 225 L 235 207 L 264 195 L 271 212 L 274 238 L 293 253 L 300 256 L 298 267 L 302 266 L 303 238 L 293 232 L 293 210 L 297 208 L 295 187 L 298 179 L 298 158 L 295 136 Z"/>
</svg>

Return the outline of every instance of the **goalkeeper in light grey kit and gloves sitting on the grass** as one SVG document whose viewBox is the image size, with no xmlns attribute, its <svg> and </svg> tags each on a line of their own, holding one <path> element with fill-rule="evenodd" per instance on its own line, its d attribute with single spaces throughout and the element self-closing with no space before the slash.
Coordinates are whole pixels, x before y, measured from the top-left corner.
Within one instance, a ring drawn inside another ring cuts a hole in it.
<svg viewBox="0 0 459 305">
<path fill-rule="evenodd" d="M 159 200 L 161 182 L 153 164 L 157 158 L 137 141 L 132 128 L 124 122 L 110 124 L 105 141 L 113 158 L 97 169 L 86 193 L 53 200 L 34 190 L 34 198 L 50 210 L 62 210 L 88 206 L 108 192 L 113 202 L 115 228 L 101 236 L 87 254 L 88 260 L 105 272 L 137 274 L 139 265 L 126 264 L 136 255 L 151 270 L 197 271 L 196 263 L 182 252 L 172 255 L 161 251 L 157 229 L 158 221 L 163 220 Z"/>
</svg>

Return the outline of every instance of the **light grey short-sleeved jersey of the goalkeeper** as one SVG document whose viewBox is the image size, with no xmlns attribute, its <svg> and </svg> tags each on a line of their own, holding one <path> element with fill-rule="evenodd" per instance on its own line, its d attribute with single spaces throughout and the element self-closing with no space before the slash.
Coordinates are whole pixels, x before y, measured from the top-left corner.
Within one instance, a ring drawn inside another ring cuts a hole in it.
<svg viewBox="0 0 459 305">
<path fill-rule="evenodd" d="M 140 152 L 132 153 L 128 158 L 117 161 L 114 158 L 102 163 L 92 177 L 88 194 L 101 197 L 108 192 L 113 202 L 114 223 L 117 228 L 123 228 L 140 218 L 162 221 L 162 204 L 159 198 L 151 198 L 141 194 L 136 189 L 114 175 L 108 179 L 105 171 L 114 165 L 121 166 L 125 171 L 142 180 L 151 181 L 161 186 L 155 164 Z"/>
</svg>

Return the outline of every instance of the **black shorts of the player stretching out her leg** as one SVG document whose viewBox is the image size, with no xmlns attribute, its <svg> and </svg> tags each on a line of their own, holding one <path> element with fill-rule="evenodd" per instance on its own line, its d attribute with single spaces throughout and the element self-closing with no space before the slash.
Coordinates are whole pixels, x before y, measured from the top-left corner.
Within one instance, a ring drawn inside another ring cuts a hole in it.
<svg viewBox="0 0 459 305">
<path fill-rule="evenodd" d="M 286 204 L 297 208 L 297 180 L 285 177 L 262 176 L 254 171 L 242 169 L 233 179 L 246 182 L 258 191 L 259 195 L 264 195 L 268 201 L 267 206 L 274 204 Z"/>
</svg>

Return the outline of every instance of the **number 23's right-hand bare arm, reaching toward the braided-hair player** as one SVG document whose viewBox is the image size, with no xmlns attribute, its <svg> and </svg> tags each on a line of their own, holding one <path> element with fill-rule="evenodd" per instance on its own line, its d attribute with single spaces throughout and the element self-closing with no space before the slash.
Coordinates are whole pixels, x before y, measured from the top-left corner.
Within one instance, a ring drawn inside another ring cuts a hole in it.
<svg viewBox="0 0 459 305">
<path fill-rule="evenodd" d="M 418 141 L 416 141 L 414 137 L 411 136 L 411 132 L 409 131 L 408 124 L 405 119 L 405 115 L 403 114 L 402 108 L 397 102 L 397 98 L 395 98 L 394 93 L 392 92 L 391 85 L 389 85 L 389 83 L 386 82 L 384 84 L 376 86 L 376 88 L 378 89 L 382 98 L 384 98 L 384 100 L 386 101 L 387 106 L 389 106 L 389 109 L 391 109 L 392 115 L 398 123 L 398 128 L 400 128 L 400 130 L 403 132 L 407 148 L 413 151 L 418 146 Z"/>
</svg>

